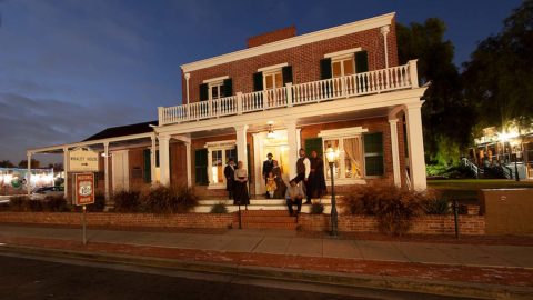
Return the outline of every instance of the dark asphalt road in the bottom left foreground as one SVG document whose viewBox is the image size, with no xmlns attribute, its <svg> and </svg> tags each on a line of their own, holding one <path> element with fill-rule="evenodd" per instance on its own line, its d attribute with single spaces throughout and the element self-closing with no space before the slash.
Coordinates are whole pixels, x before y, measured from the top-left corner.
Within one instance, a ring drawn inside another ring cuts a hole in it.
<svg viewBox="0 0 533 300">
<path fill-rule="evenodd" d="M 0 254 L 0 299 L 456 299 Z"/>
</svg>

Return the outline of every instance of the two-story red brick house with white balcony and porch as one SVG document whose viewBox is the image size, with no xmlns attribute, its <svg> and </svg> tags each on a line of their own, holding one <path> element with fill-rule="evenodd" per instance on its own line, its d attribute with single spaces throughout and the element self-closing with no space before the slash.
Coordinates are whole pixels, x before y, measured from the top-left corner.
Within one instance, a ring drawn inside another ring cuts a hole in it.
<svg viewBox="0 0 533 300">
<path fill-rule="evenodd" d="M 339 159 L 333 173 L 324 168 L 328 182 L 334 176 L 341 187 L 372 180 L 426 187 L 425 88 L 419 87 L 416 61 L 399 66 L 394 13 L 301 36 L 284 28 L 181 70 L 182 104 L 158 108 L 157 123 L 32 149 L 29 157 L 90 146 L 103 151 L 100 178 L 108 193 L 137 177 L 188 182 L 209 197 L 223 194 L 230 157 L 248 166 L 251 191 L 262 194 L 266 153 L 288 182 L 300 148 L 323 154 L 332 147 Z"/>
</svg>

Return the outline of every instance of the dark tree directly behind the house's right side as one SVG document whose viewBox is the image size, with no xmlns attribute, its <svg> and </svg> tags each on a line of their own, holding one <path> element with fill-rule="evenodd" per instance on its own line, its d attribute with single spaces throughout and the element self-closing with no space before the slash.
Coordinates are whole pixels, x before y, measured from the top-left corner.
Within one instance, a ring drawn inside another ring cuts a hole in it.
<svg viewBox="0 0 533 300">
<path fill-rule="evenodd" d="M 473 109 L 461 92 L 461 77 L 453 63 L 454 47 L 444 40 L 446 27 L 436 18 L 423 24 L 398 24 L 400 63 L 418 59 L 420 83 L 431 82 L 422 107 L 424 148 L 428 162 L 446 163 L 471 140 Z"/>
</svg>

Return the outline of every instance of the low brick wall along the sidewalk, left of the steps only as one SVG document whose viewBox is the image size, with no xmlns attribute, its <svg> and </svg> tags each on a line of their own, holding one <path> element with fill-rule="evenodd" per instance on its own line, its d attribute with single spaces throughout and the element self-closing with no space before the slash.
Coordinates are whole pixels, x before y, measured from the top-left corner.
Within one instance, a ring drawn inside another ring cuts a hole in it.
<svg viewBox="0 0 533 300">
<path fill-rule="evenodd" d="M 99 227 L 228 228 L 232 222 L 233 216 L 230 213 L 87 213 L 88 226 Z M 81 224 L 81 213 L 0 212 L 0 223 L 78 226 Z"/>
</svg>

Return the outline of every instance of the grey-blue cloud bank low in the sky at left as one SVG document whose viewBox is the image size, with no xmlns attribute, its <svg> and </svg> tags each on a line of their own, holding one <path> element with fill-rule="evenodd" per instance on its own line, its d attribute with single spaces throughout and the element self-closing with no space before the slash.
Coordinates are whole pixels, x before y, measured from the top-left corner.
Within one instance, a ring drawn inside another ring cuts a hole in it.
<svg viewBox="0 0 533 300">
<path fill-rule="evenodd" d="M 141 109 L 128 111 L 119 106 L 92 108 L 0 92 L 0 159 L 17 162 L 30 148 L 77 142 L 107 127 L 148 121 Z"/>
</svg>

